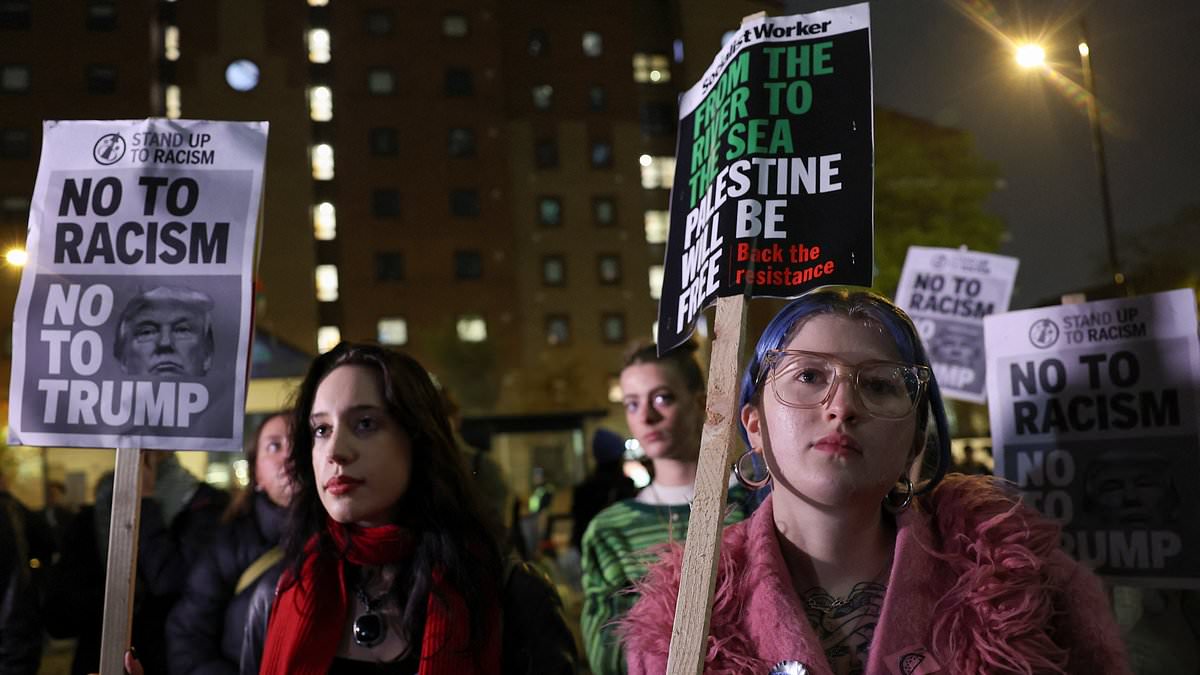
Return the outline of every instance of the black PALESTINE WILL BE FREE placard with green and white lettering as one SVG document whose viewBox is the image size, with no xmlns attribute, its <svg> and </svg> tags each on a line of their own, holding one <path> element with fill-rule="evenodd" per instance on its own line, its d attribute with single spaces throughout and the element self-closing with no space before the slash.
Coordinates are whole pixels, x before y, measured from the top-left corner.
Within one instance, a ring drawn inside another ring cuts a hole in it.
<svg viewBox="0 0 1200 675">
<path fill-rule="evenodd" d="M 716 297 L 870 286 L 866 4 L 743 23 L 679 103 L 659 345 Z"/>
</svg>

